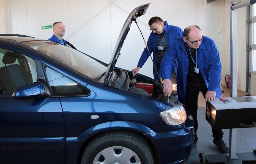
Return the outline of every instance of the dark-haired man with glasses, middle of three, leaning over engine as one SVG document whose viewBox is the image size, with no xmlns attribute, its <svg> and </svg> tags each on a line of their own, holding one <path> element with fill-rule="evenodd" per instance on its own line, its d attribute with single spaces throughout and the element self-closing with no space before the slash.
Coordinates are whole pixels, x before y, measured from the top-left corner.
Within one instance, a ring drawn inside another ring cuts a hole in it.
<svg viewBox="0 0 256 164">
<path fill-rule="evenodd" d="M 163 22 L 163 19 L 161 19 L 158 16 L 152 17 L 148 21 L 148 25 L 150 27 L 150 30 L 152 31 L 148 37 L 148 49 L 147 47 L 145 47 L 139 59 L 137 67 L 132 70 L 132 74 L 135 76 L 139 72 L 139 69 L 142 68 L 150 54 L 153 52 L 154 79 L 160 81 L 161 79 L 158 78 L 158 73 L 160 73 L 160 63 L 163 59 L 163 55 L 166 53 L 167 49 L 169 48 L 169 45 L 172 43 L 174 39 L 183 36 L 183 31 L 181 30 L 181 28 L 177 26 L 168 25 L 166 21 Z M 157 70 L 155 67 L 157 68 Z M 169 73 L 172 76 L 172 83 L 175 85 L 177 83 L 175 73 L 177 72 L 176 64 L 174 65 L 174 68 L 170 72 Z M 174 97 L 177 95 L 176 85 L 173 88 L 172 95 Z"/>
</svg>

